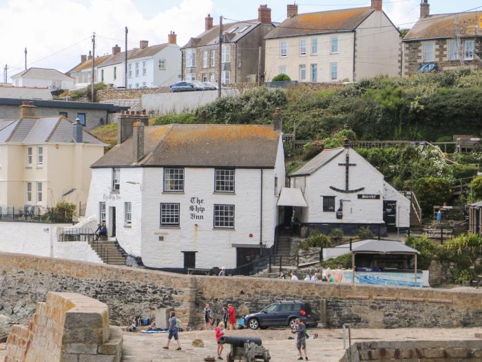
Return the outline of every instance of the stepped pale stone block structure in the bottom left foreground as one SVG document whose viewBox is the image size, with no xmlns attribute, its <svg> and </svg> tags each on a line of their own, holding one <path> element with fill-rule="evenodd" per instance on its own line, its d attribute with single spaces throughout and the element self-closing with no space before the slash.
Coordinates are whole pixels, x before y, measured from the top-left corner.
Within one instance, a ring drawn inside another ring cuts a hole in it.
<svg viewBox="0 0 482 362">
<path fill-rule="evenodd" d="M 28 327 L 14 325 L 5 362 L 118 362 L 122 330 L 109 327 L 107 305 L 75 293 L 49 292 Z"/>
</svg>

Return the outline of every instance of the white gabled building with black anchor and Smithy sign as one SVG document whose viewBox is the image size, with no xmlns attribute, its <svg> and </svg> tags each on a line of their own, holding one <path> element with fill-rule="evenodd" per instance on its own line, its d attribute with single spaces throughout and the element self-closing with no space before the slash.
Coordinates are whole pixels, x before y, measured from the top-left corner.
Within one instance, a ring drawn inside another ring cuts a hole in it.
<svg viewBox="0 0 482 362">
<path fill-rule="evenodd" d="M 361 226 L 375 234 L 379 227 L 381 234 L 410 227 L 410 200 L 348 146 L 323 150 L 289 177 L 308 205 L 295 208 L 302 225 L 327 233 L 342 228 L 346 234 Z"/>
</svg>

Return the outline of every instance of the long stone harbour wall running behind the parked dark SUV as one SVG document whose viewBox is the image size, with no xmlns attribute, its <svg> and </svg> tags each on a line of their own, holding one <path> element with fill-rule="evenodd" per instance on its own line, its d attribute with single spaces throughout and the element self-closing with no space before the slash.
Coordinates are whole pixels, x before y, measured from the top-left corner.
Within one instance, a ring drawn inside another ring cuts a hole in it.
<svg viewBox="0 0 482 362">
<path fill-rule="evenodd" d="M 135 315 L 154 316 L 158 308 L 174 307 L 185 325 L 196 328 L 206 302 L 220 316 L 227 303 L 233 303 L 241 315 L 293 299 L 311 303 L 322 321 L 334 328 L 343 323 L 368 328 L 450 328 L 482 323 L 479 290 L 189 276 L 0 253 L 0 315 L 10 313 L 9 318 L 16 318 L 15 310 L 44 300 L 48 290 L 80 292 L 106 303 L 114 325 L 127 325 Z"/>
</svg>

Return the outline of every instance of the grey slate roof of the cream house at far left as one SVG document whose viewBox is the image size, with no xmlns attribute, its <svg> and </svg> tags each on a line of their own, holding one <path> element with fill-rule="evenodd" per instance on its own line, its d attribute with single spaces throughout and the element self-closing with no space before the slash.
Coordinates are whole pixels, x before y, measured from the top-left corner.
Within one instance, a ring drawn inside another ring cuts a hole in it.
<svg viewBox="0 0 482 362">
<path fill-rule="evenodd" d="M 0 127 L 2 121 L 0 121 Z M 0 128 L 0 143 L 74 143 L 72 139 L 72 122 L 64 117 L 29 118 L 23 117 L 11 121 Z M 106 144 L 92 134 L 83 131 L 83 143 L 95 145 Z"/>
</svg>

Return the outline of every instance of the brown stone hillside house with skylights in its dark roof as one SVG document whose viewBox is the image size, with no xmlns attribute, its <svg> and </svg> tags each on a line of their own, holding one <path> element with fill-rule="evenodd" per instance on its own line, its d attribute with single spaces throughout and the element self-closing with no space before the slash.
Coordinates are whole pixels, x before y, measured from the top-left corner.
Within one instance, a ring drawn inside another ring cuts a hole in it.
<svg viewBox="0 0 482 362">
<path fill-rule="evenodd" d="M 275 27 L 271 9 L 258 8 L 258 19 L 223 23 L 221 81 L 253 82 L 264 74 L 264 36 Z M 259 57 L 261 49 L 261 59 Z M 205 17 L 205 31 L 189 39 L 182 50 L 182 79 L 217 82 L 219 79 L 219 25 Z"/>
</svg>

